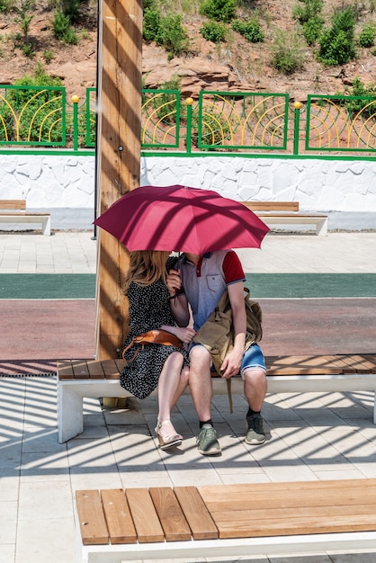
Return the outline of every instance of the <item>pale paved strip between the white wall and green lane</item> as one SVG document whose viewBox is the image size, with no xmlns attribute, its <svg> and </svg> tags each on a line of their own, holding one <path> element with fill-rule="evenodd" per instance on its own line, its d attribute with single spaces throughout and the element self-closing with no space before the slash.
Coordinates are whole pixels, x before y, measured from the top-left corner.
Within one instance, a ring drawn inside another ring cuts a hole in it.
<svg viewBox="0 0 376 563">
<path fill-rule="evenodd" d="M 376 231 L 328 237 L 268 234 L 262 249 L 239 250 L 246 273 L 376 273 Z M 0 232 L 1 273 L 95 273 L 92 231 Z"/>
</svg>

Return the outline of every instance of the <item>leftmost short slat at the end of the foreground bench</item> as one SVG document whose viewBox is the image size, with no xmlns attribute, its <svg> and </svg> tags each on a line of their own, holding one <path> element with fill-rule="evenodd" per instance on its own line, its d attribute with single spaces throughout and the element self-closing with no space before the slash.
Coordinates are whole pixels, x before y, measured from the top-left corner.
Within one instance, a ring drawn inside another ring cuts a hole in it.
<svg viewBox="0 0 376 563">
<path fill-rule="evenodd" d="M 99 491 L 76 491 L 76 506 L 84 545 L 108 543 L 109 533 Z"/>
</svg>

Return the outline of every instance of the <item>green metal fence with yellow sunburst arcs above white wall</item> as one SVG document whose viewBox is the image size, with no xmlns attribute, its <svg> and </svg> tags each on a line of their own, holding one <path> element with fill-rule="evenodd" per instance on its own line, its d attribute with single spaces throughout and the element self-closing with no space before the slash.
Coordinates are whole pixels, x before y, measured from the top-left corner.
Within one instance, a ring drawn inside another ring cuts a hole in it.
<svg viewBox="0 0 376 563">
<path fill-rule="evenodd" d="M 95 148 L 96 91 L 67 102 L 64 87 L 0 85 L 0 145 Z M 178 90 L 142 91 L 145 154 L 362 155 L 376 151 L 376 98 Z"/>
</svg>

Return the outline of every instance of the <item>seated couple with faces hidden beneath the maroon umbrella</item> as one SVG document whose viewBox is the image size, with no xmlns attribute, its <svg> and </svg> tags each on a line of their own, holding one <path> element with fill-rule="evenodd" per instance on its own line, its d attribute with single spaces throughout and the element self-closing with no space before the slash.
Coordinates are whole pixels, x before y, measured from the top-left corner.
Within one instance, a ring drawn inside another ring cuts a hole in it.
<svg viewBox="0 0 376 563">
<path fill-rule="evenodd" d="M 189 384 L 200 424 L 198 451 L 202 455 L 220 454 L 211 421 L 210 353 L 202 344 L 192 343 L 192 339 L 226 290 L 232 309 L 234 346 L 220 372 L 225 379 L 241 373 L 248 403 L 246 443 L 256 445 L 265 441 L 261 416 L 266 394 L 264 355 L 258 344 L 252 344 L 245 352 L 244 281 L 243 267 L 232 250 L 184 254 L 179 259 L 161 251 L 130 253 L 124 288 L 130 306 L 130 333 L 124 343 L 124 357 L 129 365 L 121 371 L 121 386 L 137 398 L 148 397 L 157 388 L 156 433 L 163 450 L 183 442 L 183 436 L 176 433 L 171 422 L 171 411 Z M 184 346 L 148 344 L 134 357 L 132 338 L 154 329 L 177 336 Z"/>
</svg>

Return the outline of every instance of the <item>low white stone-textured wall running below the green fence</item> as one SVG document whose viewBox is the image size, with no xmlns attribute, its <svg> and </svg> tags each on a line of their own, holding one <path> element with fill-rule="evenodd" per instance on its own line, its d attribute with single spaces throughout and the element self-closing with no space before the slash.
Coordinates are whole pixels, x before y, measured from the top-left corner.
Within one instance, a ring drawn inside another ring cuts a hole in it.
<svg viewBox="0 0 376 563">
<path fill-rule="evenodd" d="M 0 199 L 49 210 L 52 228 L 90 229 L 94 169 L 94 156 L 4 154 Z M 239 201 L 299 201 L 300 210 L 327 212 L 329 228 L 376 228 L 376 162 L 148 156 L 141 158 L 140 178 L 141 185 L 181 183 Z"/>
</svg>

